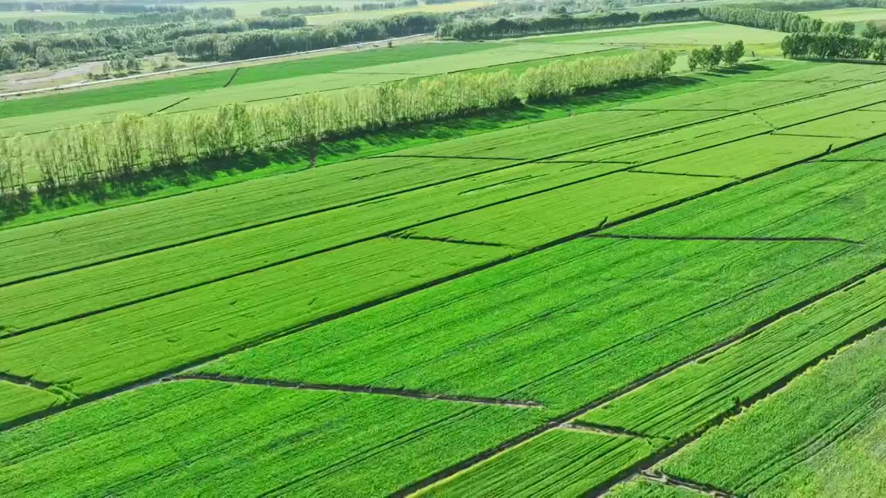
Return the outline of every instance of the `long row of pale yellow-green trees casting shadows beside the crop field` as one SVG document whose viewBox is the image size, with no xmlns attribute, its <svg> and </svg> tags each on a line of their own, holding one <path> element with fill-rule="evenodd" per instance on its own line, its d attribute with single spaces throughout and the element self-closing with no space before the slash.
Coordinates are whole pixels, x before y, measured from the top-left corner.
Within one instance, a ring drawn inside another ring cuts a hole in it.
<svg viewBox="0 0 886 498">
<path fill-rule="evenodd" d="M 324 140 L 433 121 L 657 78 L 672 51 L 638 51 L 612 58 L 578 58 L 527 70 L 444 74 L 291 97 L 274 105 L 228 105 L 216 113 L 82 124 L 37 136 L 0 140 L 0 190 L 17 195 L 37 170 L 43 190 L 182 167 L 268 147 L 299 147 L 313 162 Z"/>
</svg>

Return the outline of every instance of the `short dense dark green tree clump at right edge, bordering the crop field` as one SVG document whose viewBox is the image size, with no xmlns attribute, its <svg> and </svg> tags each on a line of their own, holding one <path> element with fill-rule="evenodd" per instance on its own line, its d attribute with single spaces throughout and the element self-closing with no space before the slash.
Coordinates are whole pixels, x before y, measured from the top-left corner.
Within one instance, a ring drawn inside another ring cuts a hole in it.
<svg viewBox="0 0 886 498">
<path fill-rule="evenodd" d="M 886 61 L 886 39 L 857 38 L 835 33 L 794 33 L 781 39 L 790 58 L 851 58 Z"/>
</svg>

